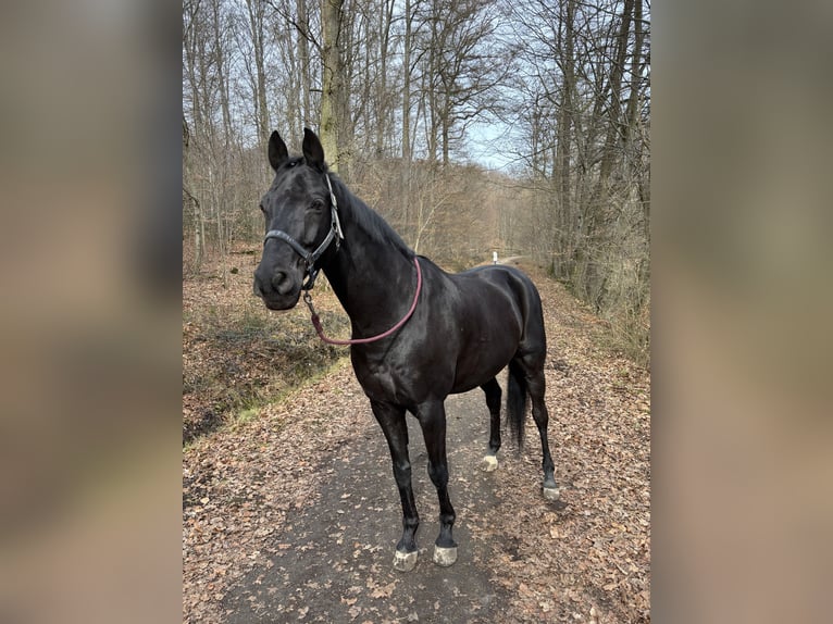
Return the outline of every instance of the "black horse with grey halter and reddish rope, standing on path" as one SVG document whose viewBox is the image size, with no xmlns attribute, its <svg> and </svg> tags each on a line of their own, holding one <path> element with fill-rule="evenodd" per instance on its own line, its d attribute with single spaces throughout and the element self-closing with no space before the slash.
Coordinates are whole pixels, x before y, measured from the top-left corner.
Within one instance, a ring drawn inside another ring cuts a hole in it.
<svg viewBox="0 0 833 624">
<path fill-rule="evenodd" d="M 540 297 L 522 272 L 501 265 L 449 275 L 418 257 L 394 229 L 332 173 L 315 134 L 304 129 L 303 155 L 289 157 L 274 132 L 272 187 L 261 200 L 266 222 L 254 292 L 271 310 L 298 303 L 323 270 L 352 325 L 353 371 L 390 448 L 402 502 L 402 538 L 394 566 L 416 564 L 419 525 L 411 487 L 406 411 L 420 423 L 428 475 L 439 497 L 434 561 L 451 565 L 455 510 L 448 496 L 446 412 L 450 394 L 480 386 L 492 416 L 484 470 L 497 467 L 500 397 L 496 375 L 508 365 L 509 424 L 523 439 L 527 394 L 540 434 L 544 496 L 558 498 L 544 402 L 546 336 Z M 316 328 L 320 329 L 314 315 Z M 323 336 L 323 335 L 322 335 Z"/>
</svg>

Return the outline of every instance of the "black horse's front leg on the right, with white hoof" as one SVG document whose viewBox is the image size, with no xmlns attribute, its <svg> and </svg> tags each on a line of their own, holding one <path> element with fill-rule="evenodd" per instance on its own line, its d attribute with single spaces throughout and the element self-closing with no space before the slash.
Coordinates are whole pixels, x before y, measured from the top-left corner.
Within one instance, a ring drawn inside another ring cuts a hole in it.
<svg viewBox="0 0 833 624">
<path fill-rule="evenodd" d="M 439 499 L 439 536 L 434 542 L 434 563 L 451 565 L 457 561 L 457 542 L 451 536 L 455 509 L 448 496 L 448 459 L 446 458 L 446 410 L 443 401 L 423 403 L 416 410 L 428 451 L 428 476 Z"/>
</svg>

